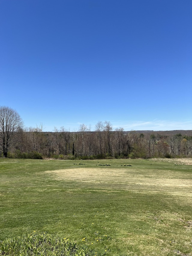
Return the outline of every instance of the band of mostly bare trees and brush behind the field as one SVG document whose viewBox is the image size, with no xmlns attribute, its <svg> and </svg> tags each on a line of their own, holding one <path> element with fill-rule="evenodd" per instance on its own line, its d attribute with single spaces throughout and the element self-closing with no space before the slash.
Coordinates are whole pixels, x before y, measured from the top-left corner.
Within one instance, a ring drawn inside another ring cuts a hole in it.
<svg viewBox="0 0 192 256">
<path fill-rule="evenodd" d="M 19 114 L 0 107 L 1 156 L 12 158 L 150 158 L 191 157 L 192 131 L 124 131 L 109 121 L 99 121 L 91 131 L 81 124 L 78 131 L 64 127 L 44 132 L 42 124 L 26 128 Z"/>
</svg>

